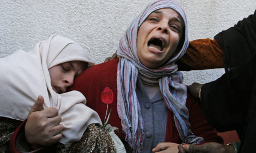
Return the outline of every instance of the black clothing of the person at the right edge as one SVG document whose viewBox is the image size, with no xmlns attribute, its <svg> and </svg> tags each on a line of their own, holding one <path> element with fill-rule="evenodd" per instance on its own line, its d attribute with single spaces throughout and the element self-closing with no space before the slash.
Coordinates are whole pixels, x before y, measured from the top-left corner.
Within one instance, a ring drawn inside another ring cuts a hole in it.
<svg viewBox="0 0 256 153">
<path fill-rule="evenodd" d="M 206 119 L 218 131 L 237 130 L 239 152 L 255 152 L 256 11 L 214 38 L 224 52 L 226 73 L 201 89 Z"/>
</svg>

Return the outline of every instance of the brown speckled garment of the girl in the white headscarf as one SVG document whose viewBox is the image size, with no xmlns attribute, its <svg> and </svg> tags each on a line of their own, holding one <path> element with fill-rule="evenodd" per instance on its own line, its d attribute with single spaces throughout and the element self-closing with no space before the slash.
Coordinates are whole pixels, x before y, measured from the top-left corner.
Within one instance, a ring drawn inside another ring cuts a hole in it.
<svg viewBox="0 0 256 153">
<path fill-rule="evenodd" d="M 22 123 L 22 121 L 9 118 L 0 118 L 0 151 L 9 151 L 9 141 L 11 140 L 13 131 Z M 23 152 L 29 152 L 29 146 L 24 145 L 24 134 L 19 134 L 16 142 L 17 149 Z M 4 150 L 1 150 L 4 149 Z M 115 144 L 104 127 L 100 124 L 90 124 L 83 133 L 81 140 L 76 142 L 68 142 L 66 145 L 58 143 L 56 145 L 45 147 L 38 152 L 116 152 Z"/>
</svg>

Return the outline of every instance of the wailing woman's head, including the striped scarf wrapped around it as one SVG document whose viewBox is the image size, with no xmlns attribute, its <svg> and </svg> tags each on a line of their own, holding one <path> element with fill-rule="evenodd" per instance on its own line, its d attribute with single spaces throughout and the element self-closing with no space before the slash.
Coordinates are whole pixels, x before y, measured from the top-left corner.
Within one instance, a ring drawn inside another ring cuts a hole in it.
<svg viewBox="0 0 256 153">
<path fill-rule="evenodd" d="M 174 65 L 185 54 L 188 44 L 183 9 L 173 1 L 158 0 L 150 3 L 131 23 L 120 41 L 119 55 L 156 69 Z"/>
</svg>

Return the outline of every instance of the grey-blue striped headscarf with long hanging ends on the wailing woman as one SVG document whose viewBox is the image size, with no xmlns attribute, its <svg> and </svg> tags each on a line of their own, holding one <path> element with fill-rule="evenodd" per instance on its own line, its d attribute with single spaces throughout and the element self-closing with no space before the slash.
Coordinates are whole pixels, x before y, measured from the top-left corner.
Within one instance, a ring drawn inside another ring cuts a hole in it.
<svg viewBox="0 0 256 153">
<path fill-rule="evenodd" d="M 137 32 L 147 16 L 157 9 L 171 8 L 183 18 L 184 42 L 177 54 L 171 57 L 163 66 L 150 69 L 143 65 L 137 54 Z M 117 67 L 117 110 L 121 119 L 122 131 L 125 132 L 125 140 L 134 149 L 134 152 L 142 151 L 144 140 L 144 123 L 141 116 L 140 104 L 136 95 L 136 83 L 138 74 L 159 80 L 159 86 L 166 106 L 174 114 L 176 128 L 181 140 L 186 143 L 199 143 L 204 141 L 202 137 L 196 137 L 190 129 L 189 111 L 186 108 L 186 85 L 182 84 L 183 75 L 177 72 L 175 62 L 185 54 L 188 48 L 188 24 L 185 12 L 173 1 L 158 0 L 147 6 L 142 13 L 134 19 L 126 33 L 120 40 L 117 55 L 120 56 Z"/>
</svg>

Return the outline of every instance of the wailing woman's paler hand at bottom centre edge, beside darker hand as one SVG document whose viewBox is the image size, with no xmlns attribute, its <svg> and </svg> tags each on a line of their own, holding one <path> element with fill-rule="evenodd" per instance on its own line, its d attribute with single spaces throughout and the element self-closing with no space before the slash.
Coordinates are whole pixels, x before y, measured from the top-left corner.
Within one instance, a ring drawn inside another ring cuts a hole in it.
<svg viewBox="0 0 256 153">
<path fill-rule="evenodd" d="M 154 149 L 152 149 L 152 152 L 161 152 L 161 153 L 177 153 L 178 152 L 178 145 L 179 144 L 175 144 L 175 143 L 171 143 L 171 142 L 162 142 L 156 145 L 156 147 Z"/>
</svg>

